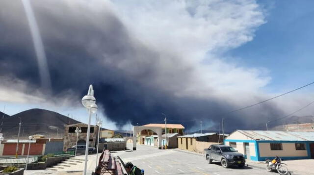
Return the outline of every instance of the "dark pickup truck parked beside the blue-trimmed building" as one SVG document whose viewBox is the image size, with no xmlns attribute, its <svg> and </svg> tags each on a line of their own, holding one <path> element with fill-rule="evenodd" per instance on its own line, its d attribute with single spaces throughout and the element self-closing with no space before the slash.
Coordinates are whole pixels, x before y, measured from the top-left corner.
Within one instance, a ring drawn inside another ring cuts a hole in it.
<svg viewBox="0 0 314 175">
<path fill-rule="evenodd" d="M 211 145 L 209 149 L 204 149 L 204 154 L 208 163 L 212 163 L 213 160 L 219 161 L 224 168 L 228 168 L 230 165 L 237 165 L 241 168 L 245 166 L 243 154 L 238 153 L 230 146 Z"/>
</svg>

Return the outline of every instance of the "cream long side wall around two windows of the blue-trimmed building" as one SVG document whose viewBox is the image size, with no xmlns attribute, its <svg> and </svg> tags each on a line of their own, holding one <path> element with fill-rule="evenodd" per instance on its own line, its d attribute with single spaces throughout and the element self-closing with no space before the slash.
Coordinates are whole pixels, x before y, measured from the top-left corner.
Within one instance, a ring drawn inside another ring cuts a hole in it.
<svg viewBox="0 0 314 175">
<path fill-rule="evenodd" d="M 308 156 L 307 150 L 295 150 L 294 143 L 282 143 L 283 150 L 270 150 L 269 143 L 259 143 L 261 157 Z"/>
</svg>

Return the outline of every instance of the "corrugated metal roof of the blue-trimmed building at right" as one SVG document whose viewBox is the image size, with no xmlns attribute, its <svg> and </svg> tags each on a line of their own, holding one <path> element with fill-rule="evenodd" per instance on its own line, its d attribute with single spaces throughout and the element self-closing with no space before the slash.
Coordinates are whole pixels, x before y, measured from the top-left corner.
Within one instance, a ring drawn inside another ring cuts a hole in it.
<svg viewBox="0 0 314 175">
<path fill-rule="evenodd" d="M 237 130 L 253 140 L 314 141 L 314 132 Z M 227 138 L 228 139 L 228 138 Z"/>
</svg>

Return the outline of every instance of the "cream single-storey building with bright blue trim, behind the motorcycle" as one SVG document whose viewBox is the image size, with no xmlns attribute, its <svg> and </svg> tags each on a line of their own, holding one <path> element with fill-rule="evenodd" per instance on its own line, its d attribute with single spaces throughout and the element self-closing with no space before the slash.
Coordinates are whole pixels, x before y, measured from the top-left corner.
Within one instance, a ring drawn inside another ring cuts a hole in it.
<svg viewBox="0 0 314 175">
<path fill-rule="evenodd" d="M 236 130 L 224 141 L 247 159 L 263 161 L 314 158 L 314 132 Z"/>
</svg>

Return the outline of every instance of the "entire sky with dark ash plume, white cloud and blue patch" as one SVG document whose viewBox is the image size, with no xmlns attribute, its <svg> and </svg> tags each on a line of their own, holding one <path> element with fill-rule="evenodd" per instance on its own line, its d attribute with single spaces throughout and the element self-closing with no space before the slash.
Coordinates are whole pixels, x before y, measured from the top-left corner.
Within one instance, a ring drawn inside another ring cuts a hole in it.
<svg viewBox="0 0 314 175">
<path fill-rule="evenodd" d="M 313 82 L 311 0 L 23 2 L 0 2 L 9 115 L 43 108 L 87 122 L 89 84 L 109 129 L 162 123 L 161 113 L 187 130 L 218 130 L 222 117 L 229 130 L 255 129 L 314 100 L 312 85 L 222 115 Z"/>
</svg>

